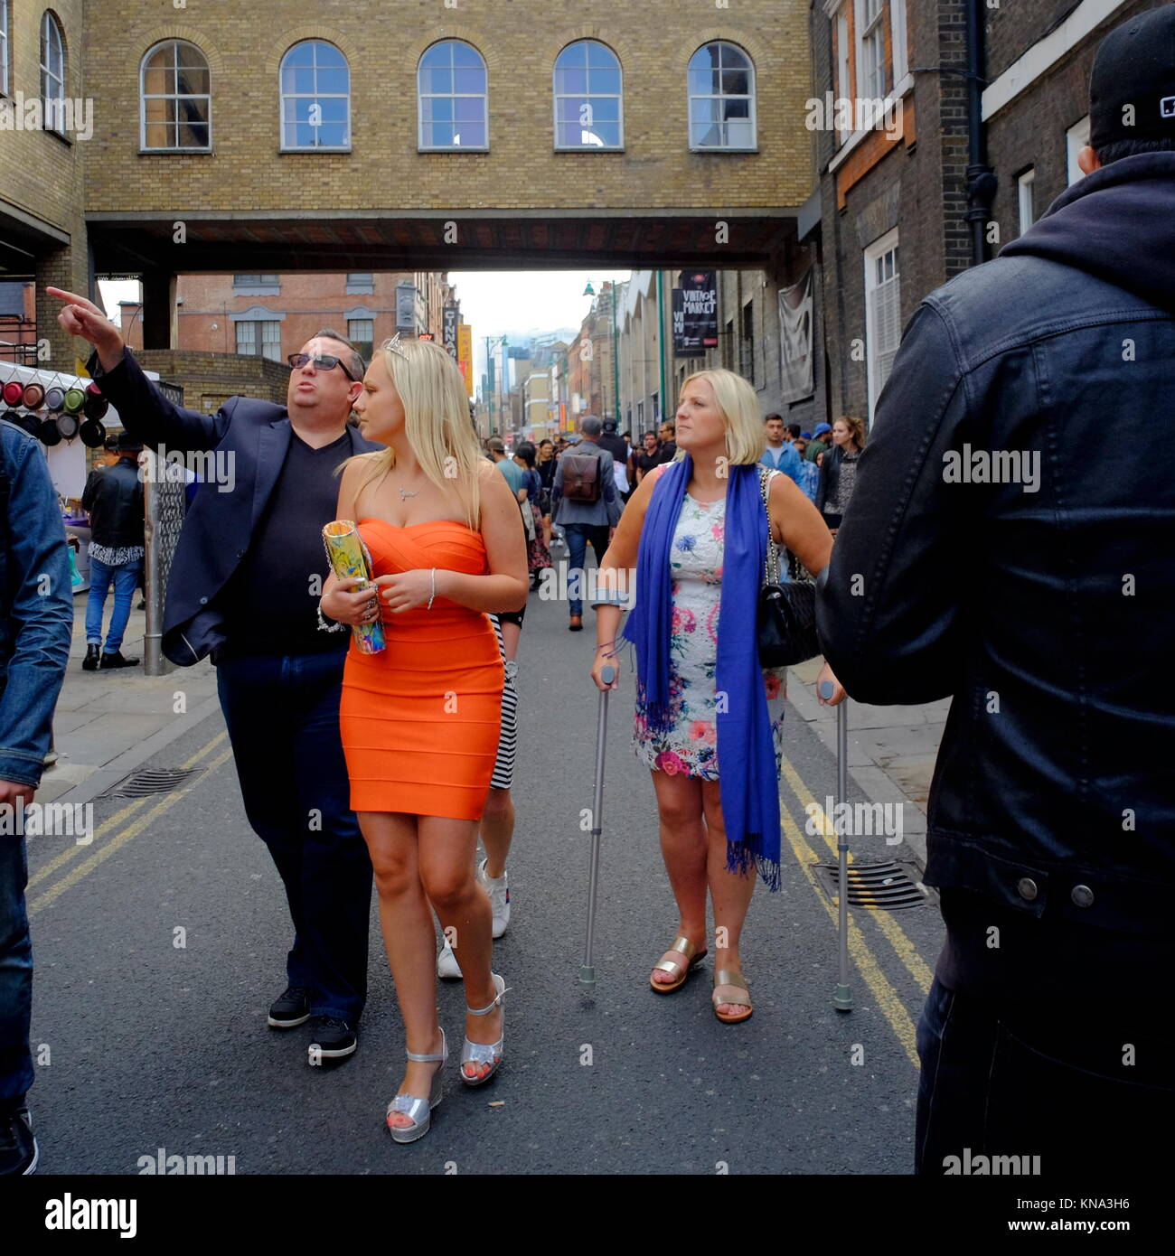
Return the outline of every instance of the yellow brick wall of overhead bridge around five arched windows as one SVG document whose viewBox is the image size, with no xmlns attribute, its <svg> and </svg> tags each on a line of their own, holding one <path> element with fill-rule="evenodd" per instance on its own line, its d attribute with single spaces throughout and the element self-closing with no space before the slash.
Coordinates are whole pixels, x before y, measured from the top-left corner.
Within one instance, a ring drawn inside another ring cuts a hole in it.
<svg viewBox="0 0 1175 1256">
<path fill-rule="evenodd" d="M 20 4 L 21 0 L 18 0 Z M 586 18 L 593 20 L 586 21 Z M 811 192 L 807 5 L 799 0 L 101 0 L 88 5 L 90 210 L 356 210 L 528 207 L 754 208 Z M 138 152 L 138 67 L 157 40 L 197 44 L 211 67 L 211 154 Z M 348 57 L 351 153 L 281 154 L 278 65 L 304 38 Z M 418 153 L 416 67 L 460 38 L 489 73 L 488 153 Z M 598 38 L 621 60 L 623 153 L 553 152 L 555 54 Z M 690 153 L 686 64 L 710 39 L 753 58 L 754 154 Z"/>
</svg>

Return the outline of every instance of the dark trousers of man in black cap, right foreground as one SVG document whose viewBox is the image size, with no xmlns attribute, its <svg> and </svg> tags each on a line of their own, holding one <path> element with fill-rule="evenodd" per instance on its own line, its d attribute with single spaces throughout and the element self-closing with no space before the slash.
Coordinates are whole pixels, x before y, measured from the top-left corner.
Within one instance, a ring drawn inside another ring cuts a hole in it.
<svg viewBox="0 0 1175 1256">
<path fill-rule="evenodd" d="M 915 1172 L 1038 1156 L 1042 1177 L 1073 1186 L 1152 1174 L 1175 1122 L 1166 1016 L 1161 1000 L 1025 1009 L 935 981 L 917 1027 Z"/>
</svg>

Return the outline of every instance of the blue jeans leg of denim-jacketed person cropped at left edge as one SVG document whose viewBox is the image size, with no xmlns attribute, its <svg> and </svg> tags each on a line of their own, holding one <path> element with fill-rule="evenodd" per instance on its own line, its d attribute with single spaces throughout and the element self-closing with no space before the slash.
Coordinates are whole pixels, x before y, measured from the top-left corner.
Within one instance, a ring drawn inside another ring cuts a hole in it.
<svg viewBox="0 0 1175 1256">
<path fill-rule="evenodd" d="M 0 1112 L 18 1107 L 33 1085 L 33 943 L 24 902 L 28 879 L 24 838 L 0 836 Z"/>
</svg>

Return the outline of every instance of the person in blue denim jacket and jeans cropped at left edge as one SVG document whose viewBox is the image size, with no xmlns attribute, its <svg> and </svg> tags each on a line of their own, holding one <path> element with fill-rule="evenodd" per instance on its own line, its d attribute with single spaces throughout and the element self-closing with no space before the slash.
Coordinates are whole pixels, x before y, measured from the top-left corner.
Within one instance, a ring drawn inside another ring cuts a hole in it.
<svg viewBox="0 0 1175 1256">
<path fill-rule="evenodd" d="M 33 1085 L 29 1020 L 33 945 L 29 879 L 15 810 L 28 806 L 53 732 L 73 634 L 65 528 L 40 445 L 0 421 L 0 1176 L 36 1168 L 25 1095 Z"/>
</svg>

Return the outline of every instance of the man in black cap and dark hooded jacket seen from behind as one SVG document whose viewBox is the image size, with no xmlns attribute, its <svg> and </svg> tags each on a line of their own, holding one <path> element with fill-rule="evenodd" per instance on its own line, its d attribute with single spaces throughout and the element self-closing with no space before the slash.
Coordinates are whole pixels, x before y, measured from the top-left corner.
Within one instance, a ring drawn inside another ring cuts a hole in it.
<svg viewBox="0 0 1175 1256">
<path fill-rule="evenodd" d="M 1098 48 L 1085 178 L 910 320 L 819 582 L 850 696 L 953 698 L 921 1173 L 966 1150 L 1137 1171 L 1175 1117 L 1154 997 L 1175 963 L 1172 100 L 1166 5 Z M 1091 457 L 1140 421 L 1150 440 Z"/>
</svg>

